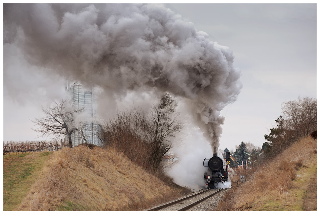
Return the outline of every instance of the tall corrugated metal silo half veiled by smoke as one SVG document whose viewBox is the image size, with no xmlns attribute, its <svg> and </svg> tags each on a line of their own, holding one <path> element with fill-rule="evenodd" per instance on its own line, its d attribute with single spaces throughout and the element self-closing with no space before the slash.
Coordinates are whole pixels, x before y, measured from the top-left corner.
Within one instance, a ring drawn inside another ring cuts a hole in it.
<svg viewBox="0 0 320 214">
<path fill-rule="evenodd" d="M 95 89 L 86 89 L 79 82 L 66 82 L 65 91 L 71 96 L 75 108 L 83 108 L 80 114 L 79 130 L 72 133 L 72 146 L 80 143 L 91 143 L 102 146 L 99 138 L 101 126 L 96 122 L 97 116 L 97 95 Z M 83 121 L 83 122 L 82 122 Z"/>
</svg>

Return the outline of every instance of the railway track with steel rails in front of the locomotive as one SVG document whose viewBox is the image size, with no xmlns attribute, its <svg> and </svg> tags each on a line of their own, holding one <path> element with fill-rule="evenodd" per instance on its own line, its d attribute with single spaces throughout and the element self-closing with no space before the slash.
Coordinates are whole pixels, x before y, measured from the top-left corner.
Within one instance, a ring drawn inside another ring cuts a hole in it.
<svg viewBox="0 0 320 214">
<path fill-rule="evenodd" d="M 219 193 L 220 190 L 207 189 L 199 193 L 172 201 L 145 211 L 184 211 Z"/>
</svg>

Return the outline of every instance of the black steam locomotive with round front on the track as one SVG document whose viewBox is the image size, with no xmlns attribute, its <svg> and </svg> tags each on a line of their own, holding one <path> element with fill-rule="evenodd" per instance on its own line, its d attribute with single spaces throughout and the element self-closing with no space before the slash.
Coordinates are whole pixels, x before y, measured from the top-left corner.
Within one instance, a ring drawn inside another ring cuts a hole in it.
<svg viewBox="0 0 320 214">
<path fill-rule="evenodd" d="M 213 154 L 210 159 L 204 158 L 203 166 L 209 167 L 204 173 L 205 183 L 211 189 L 218 189 L 218 184 L 228 182 L 228 162 L 230 161 L 230 152 L 226 152 L 226 165 L 223 165 L 223 160 L 218 157 L 218 154 Z M 225 167 L 224 167 L 225 166 Z"/>
</svg>

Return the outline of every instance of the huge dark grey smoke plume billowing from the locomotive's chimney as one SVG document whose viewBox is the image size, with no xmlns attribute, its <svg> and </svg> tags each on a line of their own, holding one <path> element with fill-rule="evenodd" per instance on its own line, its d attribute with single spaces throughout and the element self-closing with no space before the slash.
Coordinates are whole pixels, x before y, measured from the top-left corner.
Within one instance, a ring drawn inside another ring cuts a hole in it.
<svg viewBox="0 0 320 214">
<path fill-rule="evenodd" d="M 4 44 L 30 64 L 119 96 L 156 90 L 185 98 L 216 153 L 220 110 L 236 100 L 240 72 L 228 47 L 192 23 L 158 4 L 4 4 L 3 11 Z"/>
</svg>

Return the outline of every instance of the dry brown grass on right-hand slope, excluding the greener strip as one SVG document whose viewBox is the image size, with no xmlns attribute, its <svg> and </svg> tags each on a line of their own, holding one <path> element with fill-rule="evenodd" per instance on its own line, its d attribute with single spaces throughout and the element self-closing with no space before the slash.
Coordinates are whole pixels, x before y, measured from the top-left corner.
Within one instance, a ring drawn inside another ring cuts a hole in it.
<svg viewBox="0 0 320 214">
<path fill-rule="evenodd" d="M 293 188 L 302 186 L 302 184 L 300 186 L 295 184 L 297 170 L 307 166 L 313 167 L 314 161 L 310 162 L 310 160 L 316 159 L 316 143 L 317 141 L 311 138 L 303 138 L 289 146 L 272 161 L 261 166 L 259 171 L 252 175 L 247 174 L 246 182 L 230 191 L 226 196 L 228 200 L 220 204 L 219 210 L 302 209 L 295 201 L 299 199 L 292 197 L 292 201 L 288 201 L 286 198 Z M 303 199 L 305 193 L 301 194 Z M 289 208 L 290 205 L 291 208 Z"/>
</svg>

